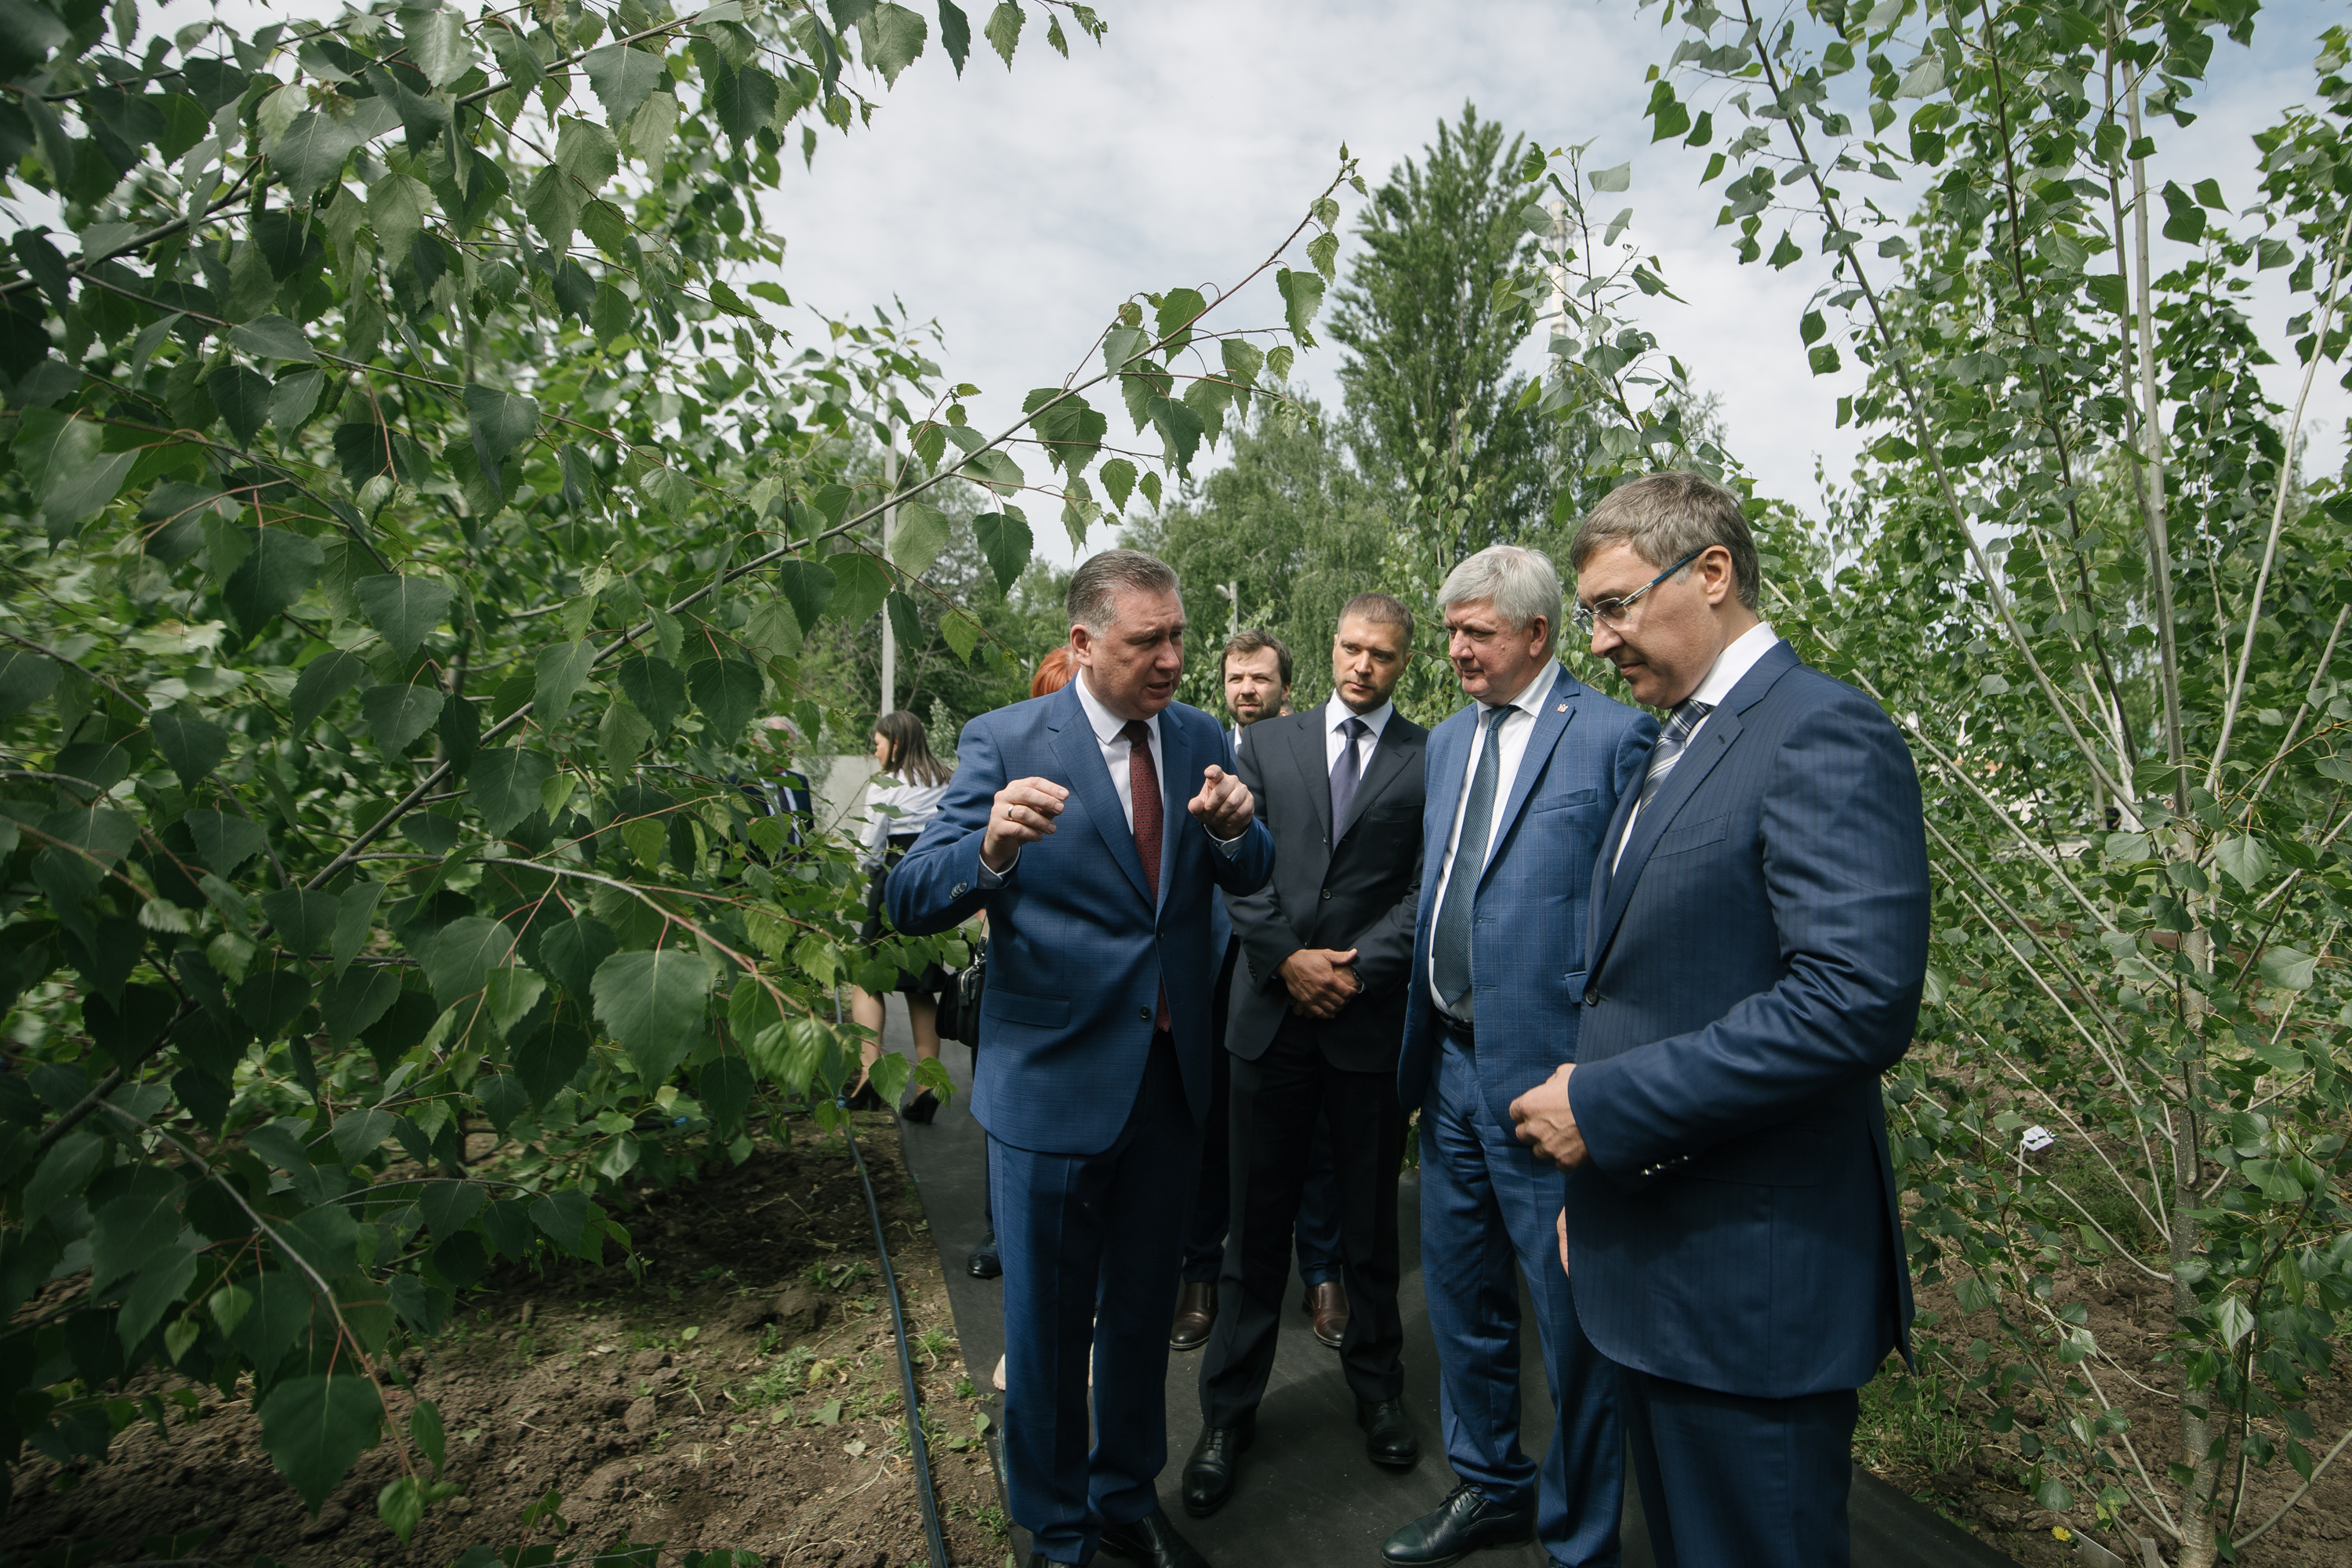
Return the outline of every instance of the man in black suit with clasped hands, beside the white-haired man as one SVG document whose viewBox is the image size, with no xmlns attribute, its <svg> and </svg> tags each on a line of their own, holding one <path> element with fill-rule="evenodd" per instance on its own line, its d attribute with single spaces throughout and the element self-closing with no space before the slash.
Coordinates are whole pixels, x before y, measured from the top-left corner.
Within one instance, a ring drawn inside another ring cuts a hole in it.
<svg viewBox="0 0 2352 1568">
<path fill-rule="evenodd" d="M 1275 1366 L 1289 1241 L 1317 1119 L 1338 1173 L 1350 1316 L 1341 1363 L 1374 1465 L 1409 1467 L 1397 1312 L 1397 1041 L 1421 889 L 1421 748 L 1428 731 L 1390 701 L 1414 649 L 1414 614 L 1385 592 L 1341 611 L 1331 701 L 1261 719 L 1237 759 L 1275 835 L 1275 879 L 1225 900 L 1242 943 L 1225 1046 L 1232 1053 L 1232 1239 L 1200 1368 L 1202 1436 L 1183 1472 L 1185 1512 L 1232 1495 Z"/>
</svg>

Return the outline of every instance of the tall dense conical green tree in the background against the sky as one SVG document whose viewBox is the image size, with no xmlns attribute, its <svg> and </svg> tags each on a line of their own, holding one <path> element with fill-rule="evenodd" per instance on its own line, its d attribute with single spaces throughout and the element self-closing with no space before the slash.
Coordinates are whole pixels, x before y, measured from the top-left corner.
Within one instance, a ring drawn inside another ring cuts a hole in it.
<svg viewBox="0 0 2352 1568">
<path fill-rule="evenodd" d="M 1465 103 L 1421 160 L 1390 169 L 1355 226 L 1331 336 L 1357 463 L 1399 494 L 1465 494 L 1454 557 L 1550 520 L 1550 421 L 1510 369 L 1534 313 L 1512 282 L 1536 261 L 1524 136 Z M 1541 160 L 1536 165 L 1541 169 Z"/>
</svg>

